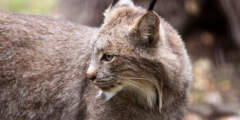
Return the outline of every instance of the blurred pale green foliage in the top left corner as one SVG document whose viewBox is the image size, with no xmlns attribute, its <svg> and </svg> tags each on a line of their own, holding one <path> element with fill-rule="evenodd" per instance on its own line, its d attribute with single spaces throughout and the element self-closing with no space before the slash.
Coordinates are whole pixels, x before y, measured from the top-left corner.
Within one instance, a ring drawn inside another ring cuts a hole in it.
<svg viewBox="0 0 240 120">
<path fill-rule="evenodd" d="M 0 10 L 26 14 L 49 14 L 57 0 L 0 0 Z"/>
</svg>

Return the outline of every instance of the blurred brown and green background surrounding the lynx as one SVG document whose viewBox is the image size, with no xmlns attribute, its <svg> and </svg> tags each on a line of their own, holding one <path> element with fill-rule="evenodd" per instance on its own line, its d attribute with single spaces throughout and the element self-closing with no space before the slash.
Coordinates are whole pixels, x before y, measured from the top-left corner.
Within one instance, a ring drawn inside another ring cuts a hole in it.
<svg viewBox="0 0 240 120">
<path fill-rule="evenodd" d="M 0 10 L 100 26 L 111 0 L 0 0 Z M 148 0 L 135 0 L 146 7 Z M 158 0 L 194 64 L 187 120 L 240 120 L 239 0 Z"/>
</svg>

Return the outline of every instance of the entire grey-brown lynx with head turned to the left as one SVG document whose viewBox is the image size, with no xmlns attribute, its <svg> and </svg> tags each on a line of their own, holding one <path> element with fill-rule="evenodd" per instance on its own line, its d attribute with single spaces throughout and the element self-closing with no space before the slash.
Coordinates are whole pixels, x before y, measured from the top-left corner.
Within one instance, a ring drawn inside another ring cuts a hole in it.
<svg viewBox="0 0 240 120">
<path fill-rule="evenodd" d="M 99 29 L 70 36 L 78 40 L 2 32 L 0 119 L 183 120 L 192 66 L 155 3 L 114 0 Z"/>
</svg>

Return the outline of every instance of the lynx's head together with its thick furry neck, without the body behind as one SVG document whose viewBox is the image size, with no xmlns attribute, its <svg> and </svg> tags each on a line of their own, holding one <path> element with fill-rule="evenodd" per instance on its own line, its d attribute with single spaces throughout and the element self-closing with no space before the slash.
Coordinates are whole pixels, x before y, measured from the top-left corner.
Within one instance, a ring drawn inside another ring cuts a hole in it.
<svg viewBox="0 0 240 120">
<path fill-rule="evenodd" d="M 192 82 L 192 67 L 181 37 L 155 12 L 123 1 L 106 10 L 92 46 L 87 74 L 95 76 L 91 83 L 100 93 L 97 96 L 109 104 L 131 104 L 129 113 L 140 111 L 134 109 L 136 105 L 152 111 L 136 120 L 181 120 Z M 111 59 L 102 60 L 105 55 Z M 99 111 L 108 114 L 110 109 Z"/>
</svg>

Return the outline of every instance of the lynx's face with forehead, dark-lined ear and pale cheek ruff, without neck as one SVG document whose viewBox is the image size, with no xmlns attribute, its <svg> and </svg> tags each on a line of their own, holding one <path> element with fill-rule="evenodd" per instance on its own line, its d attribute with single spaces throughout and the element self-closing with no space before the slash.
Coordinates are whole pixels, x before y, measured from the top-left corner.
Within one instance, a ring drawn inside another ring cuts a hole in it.
<svg viewBox="0 0 240 120">
<path fill-rule="evenodd" d="M 146 97 L 152 106 L 161 96 L 160 75 L 153 60 L 157 50 L 159 18 L 132 4 L 110 8 L 93 45 L 87 76 L 107 100 L 122 89 Z M 149 21 L 151 19 L 151 21 Z M 157 68 L 159 69 L 159 68 Z"/>
</svg>

